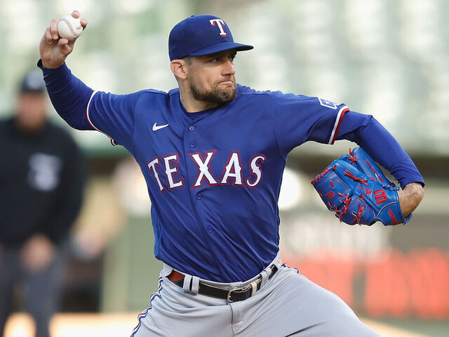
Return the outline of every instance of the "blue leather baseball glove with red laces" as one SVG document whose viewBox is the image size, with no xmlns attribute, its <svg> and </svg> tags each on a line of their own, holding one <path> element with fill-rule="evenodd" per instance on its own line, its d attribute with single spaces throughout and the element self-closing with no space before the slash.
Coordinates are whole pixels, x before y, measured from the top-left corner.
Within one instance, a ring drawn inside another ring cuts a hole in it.
<svg viewBox="0 0 449 337">
<path fill-rule="evenodd" d="M 311 184 L 329 211 L 349 225 L 373 225 L 376 221 L 398 225 L 407 223 L 412 216 L 403 217 L 399 187 L 361 147 L 334 160 Z"/>
</svg>

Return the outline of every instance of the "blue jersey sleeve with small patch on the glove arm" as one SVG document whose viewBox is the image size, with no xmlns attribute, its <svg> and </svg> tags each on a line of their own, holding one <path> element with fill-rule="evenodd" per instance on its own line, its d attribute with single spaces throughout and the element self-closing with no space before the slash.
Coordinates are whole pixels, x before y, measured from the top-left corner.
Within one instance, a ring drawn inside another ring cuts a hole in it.
<svg viewBox="0 0 449 337">
<path fill-rule="evenodd" d="M 281 154 L 308 140 L 333 144 L 343 116 L 344 105 L 304 95 L 273 93 L 274 127 Z"/>
</svg>

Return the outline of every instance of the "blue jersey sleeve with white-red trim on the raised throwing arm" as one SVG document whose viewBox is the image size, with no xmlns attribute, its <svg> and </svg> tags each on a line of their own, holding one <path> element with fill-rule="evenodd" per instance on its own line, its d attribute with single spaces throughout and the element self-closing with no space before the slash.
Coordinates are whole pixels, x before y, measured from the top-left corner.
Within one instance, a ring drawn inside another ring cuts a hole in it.
<svg viewBox="0 0 449 337">
<path fill-rule="evenodd" d="M 114 95 L 93 91 L 86 107 L 86 119 L 94 130 L 111 138 L 112 145 L 133 148 L 134 111 L 138 93 Z"/>
</svg>

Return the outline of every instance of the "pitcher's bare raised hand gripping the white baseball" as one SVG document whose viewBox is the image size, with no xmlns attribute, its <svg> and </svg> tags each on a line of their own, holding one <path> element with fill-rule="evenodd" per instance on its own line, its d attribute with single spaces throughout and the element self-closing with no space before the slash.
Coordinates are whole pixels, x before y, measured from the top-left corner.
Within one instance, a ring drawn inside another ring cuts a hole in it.
<svg viewBox="0 0 449 337">
<path fill-rule="evenodd" d="M 79 19 L 79 12 L 73 11 L 72 18 Z M 64 63 L 65 58 L 67 58 L 67 55 L 72 53 L 76 41 L 77 36 L 71 40 L 61 37 L 61 34 L 65 34 L 58 32 L 58 21 L 56 19 L 51 20 L 51 24 L 46 28 L 41 43 L 39 44 L 42 65 L 46 68 L 60 67 Z M 81 19 L 80 23 L 83 29 L 86 29 L 87 20 Z M 79 36 L 79 34 L 77 35 Z"/>
</svg>

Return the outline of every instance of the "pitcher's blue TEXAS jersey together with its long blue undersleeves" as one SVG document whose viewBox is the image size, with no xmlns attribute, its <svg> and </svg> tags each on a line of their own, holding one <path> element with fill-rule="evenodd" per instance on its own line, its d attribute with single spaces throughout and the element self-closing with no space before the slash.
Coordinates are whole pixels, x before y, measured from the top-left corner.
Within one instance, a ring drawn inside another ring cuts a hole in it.
<svg viewBox="0 0 449 337">
<path fill-rule="evenodd" d="M 332 144 L 347 138 L 365 142 L 370 153 L 361 126 L 373 118 L 321 98 L 239 85 L 232 102 L 189 113 L 178 89 L 93 92 L 65 66 L 44 70 L 44 78 L 69 124 L 105 133 L 138 161 L 152 200 L 156 258 L 216 282 L 250 279 L 278 253 L 277 201 L 290 150 L 308 140 Z M 65 86 L 70 95 L 64 95 Z M 339 131 L 342 120 L 347 122 Z M 391 138 L 382 134 L 376 140 L 403 158 L 396 178 L 401 184 L 421 181 Z M 373 157 L 382 159 L 379 153 Z M 395 170 L 388 160 L 380 163 Z"/>
</svg>

